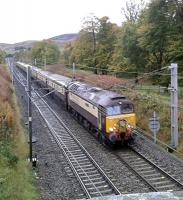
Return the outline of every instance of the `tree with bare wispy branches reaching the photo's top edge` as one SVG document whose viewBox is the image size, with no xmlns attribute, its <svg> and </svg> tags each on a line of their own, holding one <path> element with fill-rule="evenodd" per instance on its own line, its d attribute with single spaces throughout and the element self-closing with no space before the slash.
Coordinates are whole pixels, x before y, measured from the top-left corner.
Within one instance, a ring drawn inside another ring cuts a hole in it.
<svg viewBox="0 0 183 200">
<path fill-rule="evenodd" d="M 141 23 L 139 16 L 143 7 L 143 1 L 135 4 L 130 0 L 126 2 L 126 7 L 122 8 L 126 21 L 122 25 L 120 46 L 125 58 L 123 60 L 128 62 L 128 70 L 136 72 L 136 75 L 139 71 L 144 71 L 146 65 L 146 50 L 141 48 L 138 41 L 138 28 Z"/>
</svg>

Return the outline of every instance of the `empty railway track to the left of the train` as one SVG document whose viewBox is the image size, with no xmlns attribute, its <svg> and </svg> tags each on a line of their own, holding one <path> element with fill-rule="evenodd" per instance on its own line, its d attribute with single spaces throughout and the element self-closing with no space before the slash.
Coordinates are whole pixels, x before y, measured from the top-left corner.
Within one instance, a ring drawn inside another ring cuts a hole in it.
<svg viewBox="0 0 183 200">
<path fill-rule="evenodd" d="M 23 85 L 26 85 L 22 74 L 19 73 L 17 77 L 19 77 L 19 81 L 23 82 Z M 34 89 L 32 90 L 32 99 L 59 148 L 63 151 L 86 197 L 121 194 L 69 128 Z"/>
</svg>

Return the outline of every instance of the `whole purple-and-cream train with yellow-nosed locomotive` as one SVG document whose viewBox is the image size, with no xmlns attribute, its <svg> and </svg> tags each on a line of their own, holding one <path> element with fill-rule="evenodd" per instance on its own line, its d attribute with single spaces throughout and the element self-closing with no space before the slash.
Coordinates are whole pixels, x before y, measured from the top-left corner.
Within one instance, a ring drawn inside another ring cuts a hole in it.
<svg viewBox="0 0 183 200">
<path fill-rule="evenodd" d="M 24 72 L 30 66 L 32 78 L 48 91 L 54 89 L 65 108 L 100 142 L 116 146 L 134 141 L 136 114 L 128 97 L 22 62 L 16 66 Z"/>
</svg>

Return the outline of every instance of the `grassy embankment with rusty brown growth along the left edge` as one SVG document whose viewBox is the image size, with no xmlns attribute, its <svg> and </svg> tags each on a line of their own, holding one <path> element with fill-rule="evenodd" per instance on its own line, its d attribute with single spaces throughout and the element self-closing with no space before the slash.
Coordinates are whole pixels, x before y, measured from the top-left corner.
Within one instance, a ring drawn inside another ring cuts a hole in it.
<svg viewBox="0 0 183 200">
<path fill-rule="evenodd" d="M 7 69 L 0 65 L 0 200 L 36 200 L 27 142 Z"/>
</svg>

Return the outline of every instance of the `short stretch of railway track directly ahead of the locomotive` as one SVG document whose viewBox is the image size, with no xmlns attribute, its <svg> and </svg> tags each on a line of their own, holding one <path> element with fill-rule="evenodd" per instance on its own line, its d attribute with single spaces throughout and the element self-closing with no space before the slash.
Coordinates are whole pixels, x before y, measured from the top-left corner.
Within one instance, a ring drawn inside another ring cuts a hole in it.
<svg viewBox="0 0 183 200">
<path fill-rule="evenodd" d="M 115 156 L 139 177 L 151 191 L 180 191 L 183 184 L 164 169 L 136 151 L 133 146 L 115 153 Z"/>
</svg>

